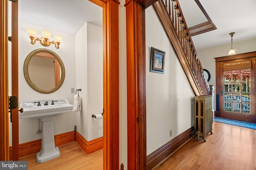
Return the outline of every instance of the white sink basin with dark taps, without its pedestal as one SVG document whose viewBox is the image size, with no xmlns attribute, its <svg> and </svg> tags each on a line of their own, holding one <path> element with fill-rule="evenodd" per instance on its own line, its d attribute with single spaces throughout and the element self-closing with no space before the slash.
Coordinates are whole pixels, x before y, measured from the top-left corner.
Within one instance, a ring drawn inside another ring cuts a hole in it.
<svg viewBox="0 0 256 170">
<path fill-rule="evenodd" d="M 52 104 L 52 101 L 54 101 L 54 105 Z M 57 102 L 55 102 L 57 101 Z M 40 102 L 41 106 L 37 106 L 38 103 L 34 102 Z M 48 102 L 48 105 L 44 105 L 44 103 Z M 26 104 L 33 104 L 31 107 L 24 107 L 24 103 Z M 60 113 L 66 113 L 73 111 L 73 105 L 69 104 L 67 99 L 40 99 L 40 100 L 31 100 L 27 102 L 20 102 L 20 108 L 23 108 L 23 113 L 19 113 L 19 118 L 29 118 L 33 117 L 36 119 L 41 119 L 44 117 L 49 116 L 56 116 Z"/>
</svg>

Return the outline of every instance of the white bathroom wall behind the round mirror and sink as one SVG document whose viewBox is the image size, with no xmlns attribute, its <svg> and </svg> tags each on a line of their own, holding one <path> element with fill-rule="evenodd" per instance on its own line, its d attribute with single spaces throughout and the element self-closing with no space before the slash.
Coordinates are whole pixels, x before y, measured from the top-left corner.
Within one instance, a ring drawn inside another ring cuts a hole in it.
<svg viewBox="0 0 256 170">
<path fill-rule="evenodd" d="M 71 88 L 75 87 L 75 36 L 60 31 L 44 28 L 24 21 L 19 21 L 19 61 L 18 61 L 18 76 L 19 76 L 19 102 L 25 102 L 28 100 L 46 99 L 46 98 L 59 98 L 68 99 L 70 104 L 74 104 L 74 94 L 71 94 Z M 62 35 L 63 41 L 60 44 L 60 49 L 56 49 L 54 45 L 49 47 L 42 46 L 38 41 L 35 45 L 30 44 L 30 38 L 26 33 L 27 28 L 33 28 L 38 31 L 37 36 L 41 37 L 41 30 L 46 29 L 51 32 L 51 40 L 54 39 L 54 35 Z M 23 64 L 27 55 L 39 48 L 46 48 L 57 53 L 65 66 L 65 80 L 56 92 L 51 94 L 41 94 L 34 91 L 28 86 L 24 74 Z M 11 88 L 9 88 L 11 90 Z M 54 135 L 74 131 L 74 125 L 76 123 L 76 117 L 74 112 L 62 113 L 54 118 Z M 41 134 L 36 134 L 38 130 L 39 120 L 34 118 L 19 119 L 19 143 L 25 143 L 41 139 Z M 11 126 L 11 123 L 10 123 Z M 42 122 L 40 123 L 40 128 Z M 10 136 L 11 141 L 11 136 Z M 10 145 L 11 146 L 11 145 Z"/>
</svg>

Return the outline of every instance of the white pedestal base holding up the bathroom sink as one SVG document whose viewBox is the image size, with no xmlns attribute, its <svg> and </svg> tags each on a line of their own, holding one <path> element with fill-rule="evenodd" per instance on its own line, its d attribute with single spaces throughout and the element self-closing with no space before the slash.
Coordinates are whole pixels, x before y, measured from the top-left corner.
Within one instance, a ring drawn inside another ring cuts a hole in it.
<svg viewBox="0 0 256 170">
<path fill-rule="evenodd" d="M 42 127 L 42 146 L 40 152 L 36 154 L 36 162 L 43 163 L 60 156 L 58 147 L 55 147 L 54 133 L 53 133 L 53 119 L 54 117 L 41 118 Z"/>
</svg>

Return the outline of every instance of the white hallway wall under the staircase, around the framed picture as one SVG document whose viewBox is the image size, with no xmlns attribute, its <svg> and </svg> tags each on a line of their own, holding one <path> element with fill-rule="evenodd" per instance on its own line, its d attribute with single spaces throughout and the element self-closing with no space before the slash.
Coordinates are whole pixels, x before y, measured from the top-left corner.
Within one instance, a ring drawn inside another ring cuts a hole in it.
<svg viewBox="0 0 256 170">
<path fill-rule="evenodd" d="M 150 72 L 151 47 L 165 51 L 164 74 Z M 191 127 L 193 100 L 192 88 L 150 6 L 146 9 L 147 155 Z"/>
</svg>

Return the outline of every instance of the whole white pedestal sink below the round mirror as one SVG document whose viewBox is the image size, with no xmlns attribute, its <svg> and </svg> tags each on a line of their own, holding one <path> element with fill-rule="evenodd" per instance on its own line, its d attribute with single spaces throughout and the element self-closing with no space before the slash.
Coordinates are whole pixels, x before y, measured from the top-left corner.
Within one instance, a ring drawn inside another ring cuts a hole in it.
<svg viewBox="0 0 256 170">
<path fill-rule="evenodd" d="M 42 146 L 36 154 L 36 162 L 43 163 L 60 156 L 54 143 L 53 119 L 58 114 L 73 111 L 73 105 L 66 99 L 40 99 L 20 102 L 20 108 L 23 108 L 23 113 L 19 113 L 20 119 L 33 117 L 42 121 Z"/>
</svg>

